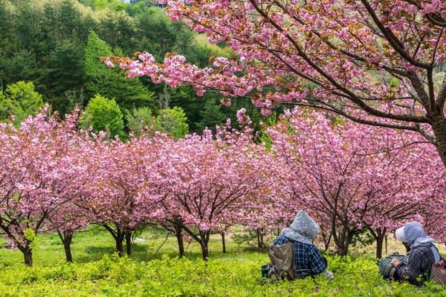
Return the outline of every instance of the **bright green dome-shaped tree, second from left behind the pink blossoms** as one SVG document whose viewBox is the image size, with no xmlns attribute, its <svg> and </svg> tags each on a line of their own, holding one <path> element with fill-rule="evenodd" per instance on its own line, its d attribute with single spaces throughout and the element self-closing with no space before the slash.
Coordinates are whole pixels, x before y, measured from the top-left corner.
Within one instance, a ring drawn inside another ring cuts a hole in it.
<svg viewBox="0 0 446 297">
<path fill-rule="evenodd" d="M 109 100 L 96 94 L 86 106 L 82 119 L 79 121 L 82 128 L 93 128 L 94 133 L 106 131 L 110 137 L 118 135 L 124 137 L 123 114 L 115 100 Z"/>
</svg>

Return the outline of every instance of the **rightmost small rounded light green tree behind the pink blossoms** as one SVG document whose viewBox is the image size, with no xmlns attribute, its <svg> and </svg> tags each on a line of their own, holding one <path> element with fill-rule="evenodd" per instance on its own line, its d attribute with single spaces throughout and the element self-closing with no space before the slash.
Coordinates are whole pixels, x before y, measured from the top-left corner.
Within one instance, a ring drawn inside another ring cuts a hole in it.
<svg viewBox="0 0 446 297">
<path fill-rule="evenodd" d="M 155 129 L 174 139 L 185 137 L 189 132 L 187 117 L 181 107 L 161 109 L 155 121 Z"/>
</svg>

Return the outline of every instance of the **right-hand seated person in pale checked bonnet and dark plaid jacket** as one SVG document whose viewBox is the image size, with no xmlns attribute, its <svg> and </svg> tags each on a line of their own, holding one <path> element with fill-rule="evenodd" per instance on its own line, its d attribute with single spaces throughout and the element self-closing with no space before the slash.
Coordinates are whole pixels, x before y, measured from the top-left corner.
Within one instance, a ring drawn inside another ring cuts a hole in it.
<svg viewBox="0 0 446 297">
<path fill-rule="evenodd" d="M 395 231 L 397 240 L 410 245 L 407 254 L 407 263 L 399 263 L 397 259 L 392 261 L 392 266 L 397 267 L 397 275 L 400 280 L 407 280 L 411 284 L 422 285 L 427 280 L 427 272 L 433 263 L 440 261 L 440 253 L 430 236 L 424 234 L 424 229 L 419 222 L 408 222 Z"/>
</svg>

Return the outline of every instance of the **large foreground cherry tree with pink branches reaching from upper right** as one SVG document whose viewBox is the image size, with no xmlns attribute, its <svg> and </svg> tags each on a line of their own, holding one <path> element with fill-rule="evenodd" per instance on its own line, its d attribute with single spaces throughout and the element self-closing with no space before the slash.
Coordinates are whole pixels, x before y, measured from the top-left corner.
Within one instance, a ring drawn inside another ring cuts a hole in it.
<svg viewBox="0 0 446 297">
<path fill-rule="evenodd" d="M 159 1 L 171 20 L 236 56 L 211 56 L 213 68 L 202 69 L 184 56 L 167 54 L 160 64 L 137 52 L 107 65 L 120 63 L 128 77 L 190 84 L 199 95 L 220 90 L 224 105 L 250 98 L 265 115 L 282 104 L 312 106 L 419 132 L 446 165 L 445 1 Z"/>
</svg>

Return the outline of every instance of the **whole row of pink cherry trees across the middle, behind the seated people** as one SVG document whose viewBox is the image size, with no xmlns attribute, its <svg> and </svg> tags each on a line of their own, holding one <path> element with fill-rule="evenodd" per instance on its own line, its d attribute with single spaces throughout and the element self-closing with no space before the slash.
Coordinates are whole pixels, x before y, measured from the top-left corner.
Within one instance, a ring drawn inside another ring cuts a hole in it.
<svg viewBox="0 0 446 297">
<path fill-rule="evenodd" d="M 0 228 L 26 265 L 36 234 L 54 232 L 72 261 L 72 236 L 89 224 L 105 227 L 121 256 L 134 230 L 155 224 L 176 234 L 180 255 L 188 234 L 207 259 L 211 231 L 286 227 L 298 209 L 340 255 L 368 230 L 380 257 L 385 235 L 407 220 L 445 240 L 445 167 L 415 132 L 310 109 L 286 111 L 263 143 L 229 122 L 215 135 L 175 141 L 146 128 L 122 142 L 77 121 L 77 111 L 61 120 L 43 110 L 20 128 L 0 124 Z"/>
</svg>

